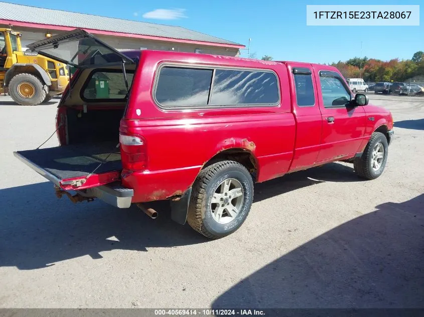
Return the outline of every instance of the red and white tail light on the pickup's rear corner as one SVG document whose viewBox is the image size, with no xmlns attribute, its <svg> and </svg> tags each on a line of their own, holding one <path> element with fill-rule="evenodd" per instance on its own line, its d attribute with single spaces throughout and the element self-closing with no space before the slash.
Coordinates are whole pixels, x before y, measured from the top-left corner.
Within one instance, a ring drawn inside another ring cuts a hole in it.
<svg viewBox="0 0 424 317">
<path fill-rule="evenodd" d="M 119 134 L 122 166 L 131 171 L 146 169 L 146 141 L 139 135 Z"/>
</svg>

